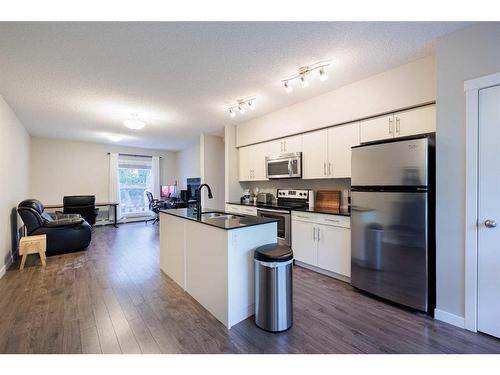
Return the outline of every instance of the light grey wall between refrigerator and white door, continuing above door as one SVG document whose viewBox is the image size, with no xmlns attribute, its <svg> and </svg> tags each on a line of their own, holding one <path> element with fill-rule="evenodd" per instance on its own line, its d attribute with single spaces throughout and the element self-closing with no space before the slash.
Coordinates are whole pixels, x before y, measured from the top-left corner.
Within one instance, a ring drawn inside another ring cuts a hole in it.
<svg viewBox="0 0 500 375">
<path fill-rule="evenodd" d="M 500 25 L 483 23 L 438 42 L 437 309 L 465 315 L 464 81 L 500 72 Z"/>
</svg>

